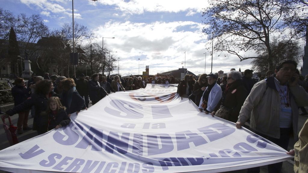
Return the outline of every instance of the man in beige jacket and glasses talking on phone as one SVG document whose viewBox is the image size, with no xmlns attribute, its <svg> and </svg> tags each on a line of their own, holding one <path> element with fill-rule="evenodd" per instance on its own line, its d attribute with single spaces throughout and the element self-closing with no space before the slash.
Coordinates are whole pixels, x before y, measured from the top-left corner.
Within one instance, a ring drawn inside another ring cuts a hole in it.
<svg viewBox="0 0 308 173">
<path fill-rule="evenodd" d="M 293 130 L 297 141 L 298 107 L 307 106 L 308 95 L 298 85 L 297 63 L 285 59 L 278 63 L 274 74 L 256 83 L 246 98 L 236 123 L 241 128 L 250 117 L 250 128 L 258 135 L 288 149 Z M 251 113 L 252 111 L 252 113 Z M 282 162 L 268 165 L 268 172 L 281 172 Z M 250 168 L 247 172 L 259 172 Z"/>
</svg>

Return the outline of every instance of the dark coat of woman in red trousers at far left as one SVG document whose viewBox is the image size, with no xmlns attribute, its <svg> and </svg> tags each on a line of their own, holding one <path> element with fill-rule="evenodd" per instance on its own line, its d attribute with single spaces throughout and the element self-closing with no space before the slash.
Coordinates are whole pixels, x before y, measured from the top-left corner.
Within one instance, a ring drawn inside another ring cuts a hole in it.
<svg viewBox="0 0 308 173">
<path fill-rule="evenodd" d="M 12 96 L 14 97 L 14 106 L 19 105 L 25 101 L 31 95 L 31 89 L 23 86 L 15 85 L 12 90 Z"/>
</svg>

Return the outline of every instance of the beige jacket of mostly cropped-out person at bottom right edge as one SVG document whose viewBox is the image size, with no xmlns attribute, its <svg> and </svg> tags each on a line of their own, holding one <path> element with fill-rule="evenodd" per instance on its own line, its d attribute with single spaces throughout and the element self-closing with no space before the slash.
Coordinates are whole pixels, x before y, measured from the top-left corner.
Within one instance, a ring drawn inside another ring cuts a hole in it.
<svg viewBox="0 0 308 173">
<path fill-rule="evenodd" d="M 295 143 L 294 150 L 294 172 L 307 173 L 308 172 L 308 119 L 304 124 L 302 130 L 299 132 L 299 141 Z"/>
</svg>

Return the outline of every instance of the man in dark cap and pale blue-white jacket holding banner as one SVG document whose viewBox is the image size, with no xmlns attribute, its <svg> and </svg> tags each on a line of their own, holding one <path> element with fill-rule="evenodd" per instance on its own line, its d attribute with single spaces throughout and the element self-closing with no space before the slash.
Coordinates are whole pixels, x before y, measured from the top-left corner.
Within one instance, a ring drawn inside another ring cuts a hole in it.
<svg viewBox="0 0 308 173">
<path fill-rule="evenodd" d="M 217 75 L 209 74 L 207 76 L 209 85 L 205 88 L 200 100 L 199 110 L 204 110 L 206 114 L 214 111 L 222 97 L 221 87 L 217 84 Z"/>
</svg>

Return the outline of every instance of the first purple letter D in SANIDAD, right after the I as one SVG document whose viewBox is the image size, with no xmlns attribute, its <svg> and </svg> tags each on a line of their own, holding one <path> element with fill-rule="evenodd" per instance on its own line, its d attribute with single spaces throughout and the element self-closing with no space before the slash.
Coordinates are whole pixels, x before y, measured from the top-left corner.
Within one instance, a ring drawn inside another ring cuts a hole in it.
<svg viewBox="0 0 308 173">
<path fill-rule="evenodd" d="M 148 155 L 156 155 L 168 153 L 173 150 L 173 142 L 168 134 L 147 135 L 148 138 Z M 161 148 L 159 148 L 158 138 L 161 140 Z"/>
</svg>

